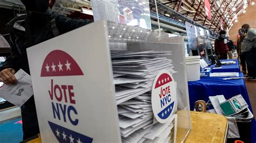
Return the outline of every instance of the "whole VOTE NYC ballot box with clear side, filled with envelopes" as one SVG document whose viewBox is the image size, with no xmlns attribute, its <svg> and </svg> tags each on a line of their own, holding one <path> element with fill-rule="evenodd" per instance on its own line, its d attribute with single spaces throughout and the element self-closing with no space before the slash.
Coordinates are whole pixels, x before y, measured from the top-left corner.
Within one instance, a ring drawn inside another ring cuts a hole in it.
<svg viewBox="0 0 256 143">
<path fill-rule="evenodd" d="M 183 41 L 100 20 L 27 49 L 42 141 L 184 141 Z"/>
</svg>

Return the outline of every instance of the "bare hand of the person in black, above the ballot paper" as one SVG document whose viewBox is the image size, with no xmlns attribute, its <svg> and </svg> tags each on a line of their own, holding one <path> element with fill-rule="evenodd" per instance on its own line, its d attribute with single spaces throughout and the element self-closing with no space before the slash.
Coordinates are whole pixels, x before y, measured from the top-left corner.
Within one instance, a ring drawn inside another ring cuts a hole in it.
<svg viewBox="0 0 256 143">
<path fill-rule="evenodd" d="M 4 84 L 16 84 L 17 79 L 14 76 L 15 70 L 12 68 L 6 68 L 0 72 L 0 81 Z"/>
</svg>

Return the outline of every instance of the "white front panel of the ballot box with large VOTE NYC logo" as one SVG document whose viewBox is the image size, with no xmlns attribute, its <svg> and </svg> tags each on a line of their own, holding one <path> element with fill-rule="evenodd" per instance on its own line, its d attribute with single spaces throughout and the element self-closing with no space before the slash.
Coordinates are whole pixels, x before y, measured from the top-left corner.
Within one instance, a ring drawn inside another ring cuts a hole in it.
<svg viewBox="0 0 256 143">
<path fill-rule="evenodd" d="M 105 31 L 104 25 L 27 49 L 42 142 L 121 142 L 107 35 L 84 35 Z"/>
</svg>

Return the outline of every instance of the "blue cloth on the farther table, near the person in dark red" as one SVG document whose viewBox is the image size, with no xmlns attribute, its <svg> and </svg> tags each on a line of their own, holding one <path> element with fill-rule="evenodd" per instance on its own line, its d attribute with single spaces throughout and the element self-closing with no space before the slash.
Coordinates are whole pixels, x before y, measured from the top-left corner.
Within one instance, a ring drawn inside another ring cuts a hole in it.
<svg viewBox="0 0 256 143">
<path fill-rule="evenodd" d="M 221 60 L 221 61 L 235 61 L 232 65 L 222 65 L 221 68 L 214 69 L 214 65 L 211 66 L 212 73 L 224 73 L 224 72 L 240 72 L 239 62 L 237 59 Z M 210 68 L 210 67 L 207 67 Z"/>
</svg>

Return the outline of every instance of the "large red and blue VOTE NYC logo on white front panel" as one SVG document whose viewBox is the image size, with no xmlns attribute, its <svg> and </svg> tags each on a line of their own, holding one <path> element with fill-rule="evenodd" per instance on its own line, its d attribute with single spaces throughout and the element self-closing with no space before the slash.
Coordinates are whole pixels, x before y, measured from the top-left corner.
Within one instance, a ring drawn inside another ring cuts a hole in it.
<svg viewBox="0 0 256 143">
<path fill-rule="evenodd" d="M 57 123 L 69 123 L 72 126 L 79 125 L 79 113 L 76 110 L 76 83 L 68 82 L 67 76 L 83 76 L 83 72 L 77 62 L 66 52 L 55 50 L 44 59 L 41 69 L 41 77 L 48 77 L 50 88 L 48 90 L 49 101 L 52 110 L 51 121 L 48 120 L 52 133 L 59 142 L 92 142 L 92 138 L 60 126 Z M 65 82 L 65 83 L 63 83 Z"/>
</svg>

